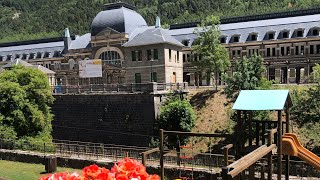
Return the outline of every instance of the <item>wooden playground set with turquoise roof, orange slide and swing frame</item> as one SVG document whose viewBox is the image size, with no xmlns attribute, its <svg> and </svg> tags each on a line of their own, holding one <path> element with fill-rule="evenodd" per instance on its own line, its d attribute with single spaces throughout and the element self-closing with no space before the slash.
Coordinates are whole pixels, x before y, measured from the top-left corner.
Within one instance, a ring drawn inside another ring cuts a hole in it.
<svg viewBox="0 0 320 180">
<path fill-rule="evenodd" d="M 320 170 L 320 158 L 301 146 L 297 136 L 290 133 L 290 107 L 292 102 L 288 90 L 243 90 L 233 109 L 237 111 L 237 124 L 232 144 L 223 148 L 225 166 L 219 175 L 222 179 L 257 179 L 254 165 L 264 163 L 260 179 L 281 180 L 290 175 L 290 156 L 296 156 Z M 253 120 L 253 111 L 276 111 L 277 121 Z M 285 121 L 282 120 L 285 112 Z M 228 134 L 202 134 L 176 131 L 160 131 L 161 179 L 164 179 L 164 140 L 169 135 L 227 138 Z M 235 161 L 229 164 L 228 151 L 235 150 Z M 267 160 L 265 160 L 265 158 Z M 284 160 L 284 163 L 283 163 Z M 285 164 L 283 173 L 283 164 Z M 275 168 L 275 169 L 274 169 Z M 193 168 L 192 168 L 193 171 Z M 267 178 L 265 177 L 265 171 Z M 274 175 L 277 172 L 277 175 Z M 180 177 L 180 179 L 193 179 Z M 218 178 L 217 178 L 218 179 Z"/>
</svg>

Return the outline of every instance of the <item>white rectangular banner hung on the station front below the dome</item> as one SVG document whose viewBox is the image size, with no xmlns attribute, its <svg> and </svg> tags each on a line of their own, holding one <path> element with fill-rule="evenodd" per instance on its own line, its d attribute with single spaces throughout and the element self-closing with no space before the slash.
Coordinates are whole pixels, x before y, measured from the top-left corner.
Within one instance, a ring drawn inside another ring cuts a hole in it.
<svg viewBox="0 0 320 180">
<path fill-rule="evenodd" d="M 79 61 L 79 77 L 80 78 L 102 77 L 101 59 Z"/>
</svg>

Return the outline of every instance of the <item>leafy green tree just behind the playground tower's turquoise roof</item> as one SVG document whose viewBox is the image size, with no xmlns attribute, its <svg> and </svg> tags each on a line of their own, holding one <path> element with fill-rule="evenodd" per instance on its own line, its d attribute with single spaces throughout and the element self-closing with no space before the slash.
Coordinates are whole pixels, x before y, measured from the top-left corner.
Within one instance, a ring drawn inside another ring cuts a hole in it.
<svg viewBox="0 0 320 180">
<path fill-rule="evenodd" d="M 223 76 L 227 84 L 224 93 L 230 99 L 230 102 L 235 102 L 240 90 L 270 88 L 271 83 L 263 77 L 264 72 L 265 67 L 261 56 L 253 55 L 236 61 L 233 74 L 224 74 Z"/>
</svg>

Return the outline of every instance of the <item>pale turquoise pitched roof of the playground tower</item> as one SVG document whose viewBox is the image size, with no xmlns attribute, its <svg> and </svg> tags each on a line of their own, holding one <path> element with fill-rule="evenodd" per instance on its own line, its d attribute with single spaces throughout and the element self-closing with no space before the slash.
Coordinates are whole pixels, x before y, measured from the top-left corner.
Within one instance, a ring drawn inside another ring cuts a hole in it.
<svg viewBox="0 0 320 180">
<path fill-rule="evenodd" d="M 234 110 L 283 110 L 292 106 L 289 90 L 242 90 L 233 105 Z"/>
</svg>

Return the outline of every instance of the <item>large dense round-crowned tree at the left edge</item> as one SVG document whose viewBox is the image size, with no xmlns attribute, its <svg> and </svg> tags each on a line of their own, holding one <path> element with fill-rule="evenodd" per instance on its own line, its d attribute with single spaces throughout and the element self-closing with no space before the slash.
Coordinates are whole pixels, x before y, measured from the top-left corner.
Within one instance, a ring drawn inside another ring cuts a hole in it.
<svg viewBox="0 0 320 180">
<path fill-rule="evenodd" d="M 51 132 L 53 96 L 48 79 L 37 69 L 15 66 L 0 74 L 0 126 L 17 137 Z"/>
</svg>

